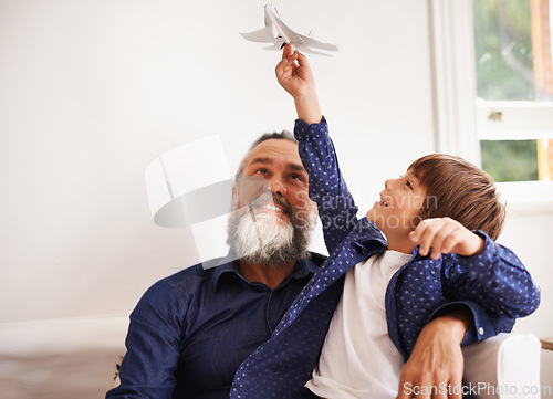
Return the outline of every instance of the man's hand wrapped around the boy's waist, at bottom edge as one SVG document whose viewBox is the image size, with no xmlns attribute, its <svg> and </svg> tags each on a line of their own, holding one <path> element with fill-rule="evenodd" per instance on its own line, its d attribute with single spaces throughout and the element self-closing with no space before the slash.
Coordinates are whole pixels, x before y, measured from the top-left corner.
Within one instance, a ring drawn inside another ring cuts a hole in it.
<svg viewBox="0 0 553 399">
<path fill-rule="evenodd" d="M 459 311 L 422 328 L 401 372 L 397 399 L 462 398 L 460 343 L 471 323 L 470 314 Z"/>
</svg>

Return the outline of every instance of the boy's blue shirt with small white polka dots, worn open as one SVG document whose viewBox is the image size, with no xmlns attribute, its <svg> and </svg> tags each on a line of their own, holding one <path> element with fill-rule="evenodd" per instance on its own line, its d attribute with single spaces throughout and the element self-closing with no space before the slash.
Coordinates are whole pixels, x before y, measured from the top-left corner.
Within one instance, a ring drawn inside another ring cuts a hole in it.
<svg viewBox="0 0 553 399">
<path fill-rule="evenodd" d="M 342 295 L 344 274 L 355 264 L 386 249 L 382 232 L 357 207 L 340 171 L 326 120 L 296 120 L 300 157 L 309 172 L 310 197 L 316 201 L 331 254 L 284 314 L 271 338 L 238 369 L 230 398 L 314 398 L 310 379 Z M 509 249 L 484 233 L 484 249 L 474 256 L 420 256 L 392 277 L 386 291 L 389 336 L 407 359 L 422 327 L 438 313 L 462 305 L 474 324 L 463 345 L 510 332 L 517 317 L 538 308 L 540 290 Z"/>
</svg>

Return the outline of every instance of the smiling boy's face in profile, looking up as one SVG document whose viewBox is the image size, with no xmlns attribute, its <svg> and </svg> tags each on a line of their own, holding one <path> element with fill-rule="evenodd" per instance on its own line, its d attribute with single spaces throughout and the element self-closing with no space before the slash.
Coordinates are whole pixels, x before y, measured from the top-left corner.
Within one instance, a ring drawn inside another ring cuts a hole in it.
<svg viewBox="0 0 553 399">
<path fill-rule="evenodd" d="M 408 240 L 409 232 L 419 221 L 426 197 L 426 189 L 409 169 L 405 176 L 386 180 L 380 200 L 368 210 L 367 218 L 386 234 L 388 243 Z"/>
</svg>

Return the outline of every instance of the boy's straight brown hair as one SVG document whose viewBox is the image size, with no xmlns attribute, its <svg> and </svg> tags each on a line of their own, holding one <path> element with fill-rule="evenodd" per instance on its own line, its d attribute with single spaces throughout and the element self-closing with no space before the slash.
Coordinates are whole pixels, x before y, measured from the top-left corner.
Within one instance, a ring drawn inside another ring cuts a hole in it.
<svg viewBox="0 0 553 399">
<path fill-rule="evenodd" d="M 505 219 L 493 179 L 465 159 L 431 154 L 415 160 L 413 170 L 426 188 L 420 219 L 449 217 L 469 230 L 481 230 L 497 240 Z"/>
</svg>

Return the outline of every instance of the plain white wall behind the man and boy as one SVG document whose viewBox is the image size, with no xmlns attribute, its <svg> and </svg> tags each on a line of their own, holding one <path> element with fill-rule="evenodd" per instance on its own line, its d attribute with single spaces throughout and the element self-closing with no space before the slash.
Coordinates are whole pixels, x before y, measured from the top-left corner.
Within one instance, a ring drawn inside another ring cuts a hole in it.
<svg viewBox="0 0 553 399">
<path fill-rule="evenodd" d="M 233 170 L 255 136 L 293 128 L 280 54 L 238 34 L 262 27 L 263 4 L 0 0 L 0 322 L 127 315 L 197 260 L 189 230 L 152 222 L 144 170 L 209 134 Z M 296 30 L 343 46 L 310 61 L 366 209 L 385 178 L 435 149 L 427 1 L 276 6 Z M 552 221 L 521 214 L 502 237 L 543 288 L 518 326 L 541 337 L 553 335 Z"/>
</svg>

